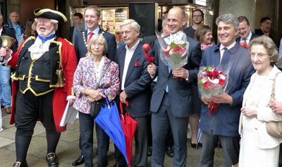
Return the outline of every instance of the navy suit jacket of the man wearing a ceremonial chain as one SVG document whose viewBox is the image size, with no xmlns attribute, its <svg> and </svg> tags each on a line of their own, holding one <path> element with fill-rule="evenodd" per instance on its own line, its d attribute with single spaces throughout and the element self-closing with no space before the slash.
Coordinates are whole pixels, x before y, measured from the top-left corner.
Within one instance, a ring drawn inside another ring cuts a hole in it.
<svg viewBox="0 0 282 167">
<path fill-rule="evenodd" d="M 85 41 L 87 42 L 87 30 L 85 30 Z M 114 57 L 116 55 L 116 37 L 109 32 L 103 32 L 100 28 L 99 34 L 102 34 L 106 39 L 106 43 L 108 44 L 108 53 L 106 57 L 109 58 L 111 61 L 114 61 Z M 75 52 L 76 56 L 78 56 L 78 62 L 80 58 L 85 57 L 87 54 L 87 47 L 85 45 L 85 41 L 83 39 L 82 32 L 78 32 L 75 35 Z"/>
</svg>

